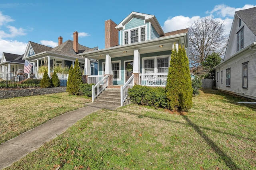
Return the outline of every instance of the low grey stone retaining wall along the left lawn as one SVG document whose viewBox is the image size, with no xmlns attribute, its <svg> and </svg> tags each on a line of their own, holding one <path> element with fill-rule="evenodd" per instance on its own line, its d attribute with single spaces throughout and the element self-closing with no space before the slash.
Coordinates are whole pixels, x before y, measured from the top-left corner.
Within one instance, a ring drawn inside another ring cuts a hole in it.
<svg viewBox="0 0 256 170">
<path fill-rule="evenodd" d="M 66 89 L 67 87 L 35 88 L 24 90 L 0 90 L 0 99 L 61 93 L 66 92 Z"/>
</svg>

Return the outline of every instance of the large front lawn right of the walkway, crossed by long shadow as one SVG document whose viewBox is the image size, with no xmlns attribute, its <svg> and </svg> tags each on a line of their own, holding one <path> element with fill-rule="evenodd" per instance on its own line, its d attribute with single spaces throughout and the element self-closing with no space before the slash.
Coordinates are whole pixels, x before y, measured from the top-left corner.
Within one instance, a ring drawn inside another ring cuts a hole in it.
<svg viewBox="0 0 256 170">
<path fill-rule="evenodd" d="M 237 101 L 205 90 L 190 112 L 102 109 L 6 169 L 256 169 L 256 106 Z"/>
</svg>

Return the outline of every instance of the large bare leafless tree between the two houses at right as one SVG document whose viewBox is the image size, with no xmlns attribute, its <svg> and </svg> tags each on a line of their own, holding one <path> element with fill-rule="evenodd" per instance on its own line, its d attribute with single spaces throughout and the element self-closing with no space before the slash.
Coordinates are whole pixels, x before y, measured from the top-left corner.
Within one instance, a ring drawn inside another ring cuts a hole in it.
<svg viewBox="0 0 256 170">
<path fill-rule="evenodd" d="M 212 53 L 222 56 L 225 52 L 228 34 L 225 25 L 211 17 L 200 18 L 189 26 L 190 65 L 197 75 L 202 74 L 202 63 Z"/>
</svg>

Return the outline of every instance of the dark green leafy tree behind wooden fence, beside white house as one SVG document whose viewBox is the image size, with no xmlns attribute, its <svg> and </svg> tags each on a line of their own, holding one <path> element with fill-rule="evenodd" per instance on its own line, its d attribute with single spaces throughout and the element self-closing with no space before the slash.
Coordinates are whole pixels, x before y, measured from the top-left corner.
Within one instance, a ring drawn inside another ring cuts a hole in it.
<svg viewBox="0 0 256 170">
<path fill-rule="evenodd" d="M 212 53 L 209 55 L 205 61 L 202 63 L 202 70 L 205 72 L 203 78 L 212 78 L 215 79 L 215 71 L 213 68 L 220 64 L 221 57 L 218 53 Z"/>
</svg>

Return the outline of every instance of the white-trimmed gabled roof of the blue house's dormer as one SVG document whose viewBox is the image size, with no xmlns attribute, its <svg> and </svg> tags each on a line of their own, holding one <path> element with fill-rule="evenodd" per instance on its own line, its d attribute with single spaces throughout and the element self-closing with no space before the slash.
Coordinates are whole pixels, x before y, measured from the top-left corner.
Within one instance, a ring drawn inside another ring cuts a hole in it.
<svg viewBox="0 0 256 170">
<path fill-rule="evenodd" d="M 150 22 L 160 36 L 164 35 L 164 31 L 163 31 L 161 25 L 156 20 L 156 17 L 154 15 L 142 14 L 139 12 L 132 12 L 131 14 L 129 14 L 124 20 L 122 20 L 116 26 L 116 29 L 118 29 L 119 31 L 124 29 L 124 26 L 126 25 L 126 23 L 128 23 L 130 20 L 132 20 L 132 18 L 139 18 L 139 19 L 145 20 L 146 22 Z"/>
</svg>

